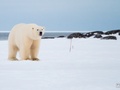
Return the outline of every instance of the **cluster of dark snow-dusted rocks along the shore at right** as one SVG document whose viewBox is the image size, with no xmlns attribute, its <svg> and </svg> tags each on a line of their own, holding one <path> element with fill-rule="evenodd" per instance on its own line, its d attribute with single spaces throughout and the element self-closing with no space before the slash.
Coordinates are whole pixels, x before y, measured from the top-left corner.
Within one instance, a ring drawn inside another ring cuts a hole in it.
<svg viewBox="0 0 120 90">
<path fill-rule="evenodd" d="M 68 39 L 72 38 L 100 38 L 105 40 L 117 40 L 117 37 L 114 36 L 115 34 L 120 35 L 120 30 L 110 30 L 110 31 L 93 31 L 93 32 L 87 32 L 87 33 L 72 33 L 67 36 Z"/>
</svg>

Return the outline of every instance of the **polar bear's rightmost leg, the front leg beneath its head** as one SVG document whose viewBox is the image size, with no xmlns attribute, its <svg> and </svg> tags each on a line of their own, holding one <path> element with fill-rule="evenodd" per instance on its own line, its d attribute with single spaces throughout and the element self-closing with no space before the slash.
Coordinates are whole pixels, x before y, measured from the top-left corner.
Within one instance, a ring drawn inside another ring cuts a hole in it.
<svg viewBox="0 0 120 90">
<path fill-rule="evenodd" d="M 31 50 L 30 50 L 32 60 L 39 60 L 37 58 L 38 52 L 39 52 L 39 43 L 40 43 L 40 40 L 34 40 L 33 41 L 33 44 L 31 46 Z"/>
</svg>

